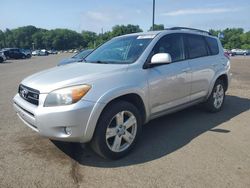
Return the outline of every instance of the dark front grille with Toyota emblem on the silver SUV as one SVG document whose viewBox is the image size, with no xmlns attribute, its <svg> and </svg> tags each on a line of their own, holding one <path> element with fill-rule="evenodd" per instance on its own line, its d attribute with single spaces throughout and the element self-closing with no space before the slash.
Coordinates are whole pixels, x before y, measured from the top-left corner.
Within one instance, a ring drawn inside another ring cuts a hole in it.
<svg viewBox="0 0 250 188">
<path fill-rule="evenodd" d="M 20 97 L 22 97 L 24 100 L 38 106 L 40 94 L 38 90 L 20 84 L 18 88 L 18 93 Z"/>
</svg>

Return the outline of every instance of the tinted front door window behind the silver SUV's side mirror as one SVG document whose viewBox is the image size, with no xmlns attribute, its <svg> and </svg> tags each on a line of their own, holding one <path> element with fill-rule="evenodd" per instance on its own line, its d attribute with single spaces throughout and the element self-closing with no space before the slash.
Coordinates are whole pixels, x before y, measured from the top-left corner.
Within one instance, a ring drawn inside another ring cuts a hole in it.
<svg viewBox="0 0 250 188">
<path fill-rule="evenodd" d="M 152 55 L 157 53 L 169 53 L 171 55 L 172 61 L 175 62 L 185 59 L 183 49 L 182 35 L 170 34 L 159 40 L 159 42 L 154 47 Z"/>
</svg>

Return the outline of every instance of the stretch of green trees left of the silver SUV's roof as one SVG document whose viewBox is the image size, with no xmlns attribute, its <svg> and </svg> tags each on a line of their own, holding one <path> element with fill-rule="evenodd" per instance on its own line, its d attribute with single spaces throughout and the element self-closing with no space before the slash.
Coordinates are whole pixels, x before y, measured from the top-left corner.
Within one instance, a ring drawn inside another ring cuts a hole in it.
<svg viewBox="0 0 250 188">
<path fill-rule="evenodd" d="M 97 34 L 92 31 L 78 33 L 69 29 L 46 30 L 35 26 L 0 30 L 0 49 L 8 47 L 32 49 L 82 49 L 94 48 L 112 37 L 142 32 L 138 25 L 116 25 L 112 31 Z"/>
</svg>

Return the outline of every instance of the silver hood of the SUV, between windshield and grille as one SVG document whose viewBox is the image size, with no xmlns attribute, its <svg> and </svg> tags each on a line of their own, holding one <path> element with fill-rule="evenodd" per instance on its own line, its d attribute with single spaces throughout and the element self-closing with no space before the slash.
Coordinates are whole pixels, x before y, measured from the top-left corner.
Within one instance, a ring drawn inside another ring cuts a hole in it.
<svg viewBox="0 0 250 188">
<path fill-rule="evenodd" d="M 25 78 L 22 84 L 40 93 L 49 93 L 71 85 L 93 84 L 94 80 L 126 71 L 127 67 L 118 64 L 73 63 L 33 74 Z"/>
</svg>

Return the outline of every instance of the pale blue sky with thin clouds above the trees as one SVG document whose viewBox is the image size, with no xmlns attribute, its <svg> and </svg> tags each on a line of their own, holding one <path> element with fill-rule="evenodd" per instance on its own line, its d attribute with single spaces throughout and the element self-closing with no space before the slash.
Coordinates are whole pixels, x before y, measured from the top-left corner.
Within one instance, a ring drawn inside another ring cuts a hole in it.
<svg viewBox="0 0 250 188">
<path fill-rule="evenodd" d="M 25 25 L 101 32 L 116 24 L 152 25 L 153 0 L 1 0 L 0 29 Z M 250 0 L 156 0 L 156 24 L 250 30 Z"/>
</svg>

